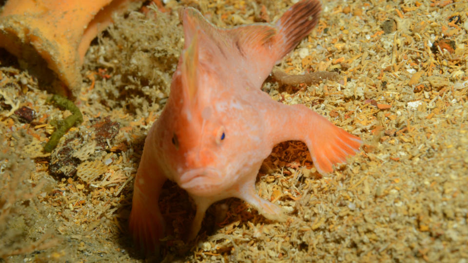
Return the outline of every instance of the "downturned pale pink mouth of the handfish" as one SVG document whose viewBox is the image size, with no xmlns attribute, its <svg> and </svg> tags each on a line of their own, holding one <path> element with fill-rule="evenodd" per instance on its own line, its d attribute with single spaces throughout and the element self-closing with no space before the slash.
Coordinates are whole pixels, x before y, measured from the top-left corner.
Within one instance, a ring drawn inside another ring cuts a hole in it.
<svg viewBox="0 0 468 263">
<path fill-rule="evenodd" d="M 188 170 L 178 180 L 178 185 L 181 188 L 199 195 L 210 194 L 216 186 L 221 184 L 221 172 L 211 167 Z"/>
</svg>

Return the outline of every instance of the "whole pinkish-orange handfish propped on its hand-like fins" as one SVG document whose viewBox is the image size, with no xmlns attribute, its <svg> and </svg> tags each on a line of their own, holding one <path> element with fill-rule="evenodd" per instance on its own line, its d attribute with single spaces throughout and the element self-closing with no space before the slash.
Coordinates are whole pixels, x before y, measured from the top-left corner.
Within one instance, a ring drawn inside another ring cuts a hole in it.
<svg viewBox="0 0 468 263">
<path fill-rule="evenodd" d="M 273 26 L 221 29 L 193 8 L 181 10 L 184 51 L 135 180 L 129 228 L 140 247 L 154 251 L 164 237 L 158 198 L 167 179 L 195 202 L 192 239 L 206 209 L 228 197 L 243 199 L 268 219 L 286 220 L 281 207 L 255 190 L 274 145 L 305 142 L 321 174 L 358 152 L 358 137 L 304 105 L 284 105 L 260 90 L 273 65 L 309 34 L 320 11 L 318 0 L 301 0 Z"/>
</svg>

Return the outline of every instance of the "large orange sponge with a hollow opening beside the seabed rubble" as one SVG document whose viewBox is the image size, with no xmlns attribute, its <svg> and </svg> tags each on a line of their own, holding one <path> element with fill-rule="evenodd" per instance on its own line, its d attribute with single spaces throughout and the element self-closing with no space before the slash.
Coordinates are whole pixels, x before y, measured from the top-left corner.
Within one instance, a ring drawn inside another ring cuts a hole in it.
<svg viewBox="0 0 468 263">
<path fill-rule="evenodd" d="M 39 80 L 52 85 L 52 92 L 73 98 L 78 95 L 80 68 L 93 38 L 112 23 L 113 13 L 141 2 L 8 0 L 0 14 L 0 47 L 26 62 Z M 44 62 L 55 76 L 50 76 Z"/>
</svg>

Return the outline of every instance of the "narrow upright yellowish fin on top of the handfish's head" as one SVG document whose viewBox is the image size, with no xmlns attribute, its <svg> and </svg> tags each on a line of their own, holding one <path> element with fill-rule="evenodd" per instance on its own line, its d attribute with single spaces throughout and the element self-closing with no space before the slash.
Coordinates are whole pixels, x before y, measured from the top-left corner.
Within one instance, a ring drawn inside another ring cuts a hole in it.
<svg viewBox="0 0 468 263">
<path fill-rule="evenodd" d="M 198 88 L 198 32 L 192 36 L 189 46 L 184 50 L 182 58 L 182 88 L 190 102 L 194 101 Z"/>
</svg>

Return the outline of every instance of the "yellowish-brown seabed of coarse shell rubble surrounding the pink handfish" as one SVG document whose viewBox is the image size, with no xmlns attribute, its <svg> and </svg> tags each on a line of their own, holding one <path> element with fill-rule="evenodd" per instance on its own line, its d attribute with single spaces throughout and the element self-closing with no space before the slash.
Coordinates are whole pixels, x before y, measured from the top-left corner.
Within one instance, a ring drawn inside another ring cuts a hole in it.
<svg viewBox="0 0 468 263">
<path fill-rule="evenodd" d="M 0 262 L 145 260 L 127 228 L 132 188 L 183 47 L 176 10 L 187 5 L 230 27 L 274 21 L 292 1 L 169 1 L 165 13 L 116 17 L 85 57 L 75 101 L 84 121 L 52 153 L 41 150 L 51 122 L 72 113 L 47 103 L 50 94 L 0 52 Z M 304 144 L 279 144 L 256 188 L 288 221 L 228 199 L 208 210 L 190 243 L 193 205 L 168 182 L 159 202 L 169 222 L 161 258 L 465 263 L 467 10 L 466 0 L 325 1 L 317 28 L 277 69 L 339 77 L 295 86 L 270 77 L 262 90 L 360 136 L 363 151 L 321 177 Z"/>
</svg>

